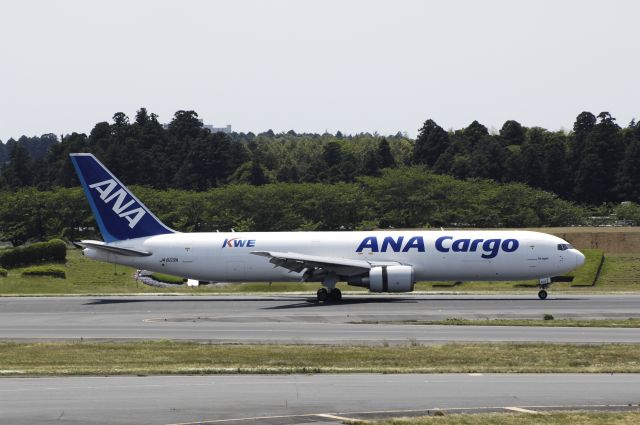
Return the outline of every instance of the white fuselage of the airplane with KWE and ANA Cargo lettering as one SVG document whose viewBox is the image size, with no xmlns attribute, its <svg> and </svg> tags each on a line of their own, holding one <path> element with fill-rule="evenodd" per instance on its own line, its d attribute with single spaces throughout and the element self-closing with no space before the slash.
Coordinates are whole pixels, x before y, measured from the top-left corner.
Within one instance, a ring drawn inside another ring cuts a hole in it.
<svg viewBox="0 0 640 425">
<path fill-rule="evenodd" d="M 517 243 L 509 242 L 513 240 Z M 201 281 L 301 279 L 302 272 L 275 267 L 267 258 L 251 254 L 254 251 L 392 261 L 412 266 L 416 281 L 497 281 L 558 276 L 583 264 L 584 256 L 578 250 L 561 250 L 561 244 L 568 245 L 545 233 L 508 230 L 172 233 L 109 244 L 150 252 L 147 257 L 92 248 L 84 253 L 102 261 Z"/>
</svg>

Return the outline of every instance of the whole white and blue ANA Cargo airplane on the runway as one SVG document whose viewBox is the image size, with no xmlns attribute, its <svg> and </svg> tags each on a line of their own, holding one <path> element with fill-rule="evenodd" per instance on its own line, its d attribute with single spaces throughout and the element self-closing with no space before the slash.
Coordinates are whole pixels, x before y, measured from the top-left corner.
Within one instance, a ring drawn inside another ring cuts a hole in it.
<svg viewBox="0 0 640 425">
<path fill-rule="evenodd" d="M 211 282 L 321 282 L 318 302 L 337 302 L 336 284 L 411 292 L 417 281 L 538 279 L 552 282 L 584 264 L 556 236 L 517 230 L 181 233 L 162 223 L 90 153 L 71 161 L 104 241 L 76 244 L 89 258 Z"/>
</svg>

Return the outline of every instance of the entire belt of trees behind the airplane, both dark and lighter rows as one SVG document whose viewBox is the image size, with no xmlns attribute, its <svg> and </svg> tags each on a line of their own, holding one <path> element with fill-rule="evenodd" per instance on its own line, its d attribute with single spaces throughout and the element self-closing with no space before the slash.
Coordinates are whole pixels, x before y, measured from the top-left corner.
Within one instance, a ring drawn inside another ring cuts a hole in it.
<svg viewBox="0 0 640 425">
<path fill-rule="evenodd" d="M 141 108 L 89 135 L 0 143 L 0 239 L 93 226 L 79 190 L 65 189 L 79 185 L 70 152 L 92 152 L 143 186 L 143 200 L 180 230 L 568 225 L 606 203 L 640 202 L 640 125 L 622 128 L 608 112 L 580 113 L 570 132 L 516 121 L 447 131 L 428 119 L 412 140 L 211 133 L 194 111 L 163 126 Z"/>
</svg>

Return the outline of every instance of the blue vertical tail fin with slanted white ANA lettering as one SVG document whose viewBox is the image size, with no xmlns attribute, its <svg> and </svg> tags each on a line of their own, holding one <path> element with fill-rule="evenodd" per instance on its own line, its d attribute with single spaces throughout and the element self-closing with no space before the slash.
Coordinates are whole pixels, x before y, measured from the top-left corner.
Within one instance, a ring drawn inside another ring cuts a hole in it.
<svg viewBox="0 0 640 425">
<path fill-rule="evenodd" d="M 173 233 L 92 154 L 71 154 L 105 242 Z"/>
</svg>

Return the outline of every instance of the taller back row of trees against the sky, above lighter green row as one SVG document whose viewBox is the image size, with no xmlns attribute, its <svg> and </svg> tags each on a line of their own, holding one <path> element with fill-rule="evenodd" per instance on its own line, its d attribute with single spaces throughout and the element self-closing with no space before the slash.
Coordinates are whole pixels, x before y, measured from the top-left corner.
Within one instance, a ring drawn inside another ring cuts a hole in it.
<svg viewBox="0 0 640 425">
<path fill-rule="evenodd" d="M 0 143 L 0 190 L 78 184 L 70 152 L 93 152 L 128 184 L 203 191 L 227 184 L 354 182 L 381 170 L 421 165 L 460 179 L 518 182 L 582 204 L 640 202 L 640 124 L 620 127 L 608 112 L 580 113 L 570 132 L 509 120 L 492 134 L 477 121 L 446 131 L 428 119 L 415 140 L 380 136 L 211 133 L 195 111 L 168 126 L 141 108 L 89 135 L 22 137 Z"/>
</svg>

